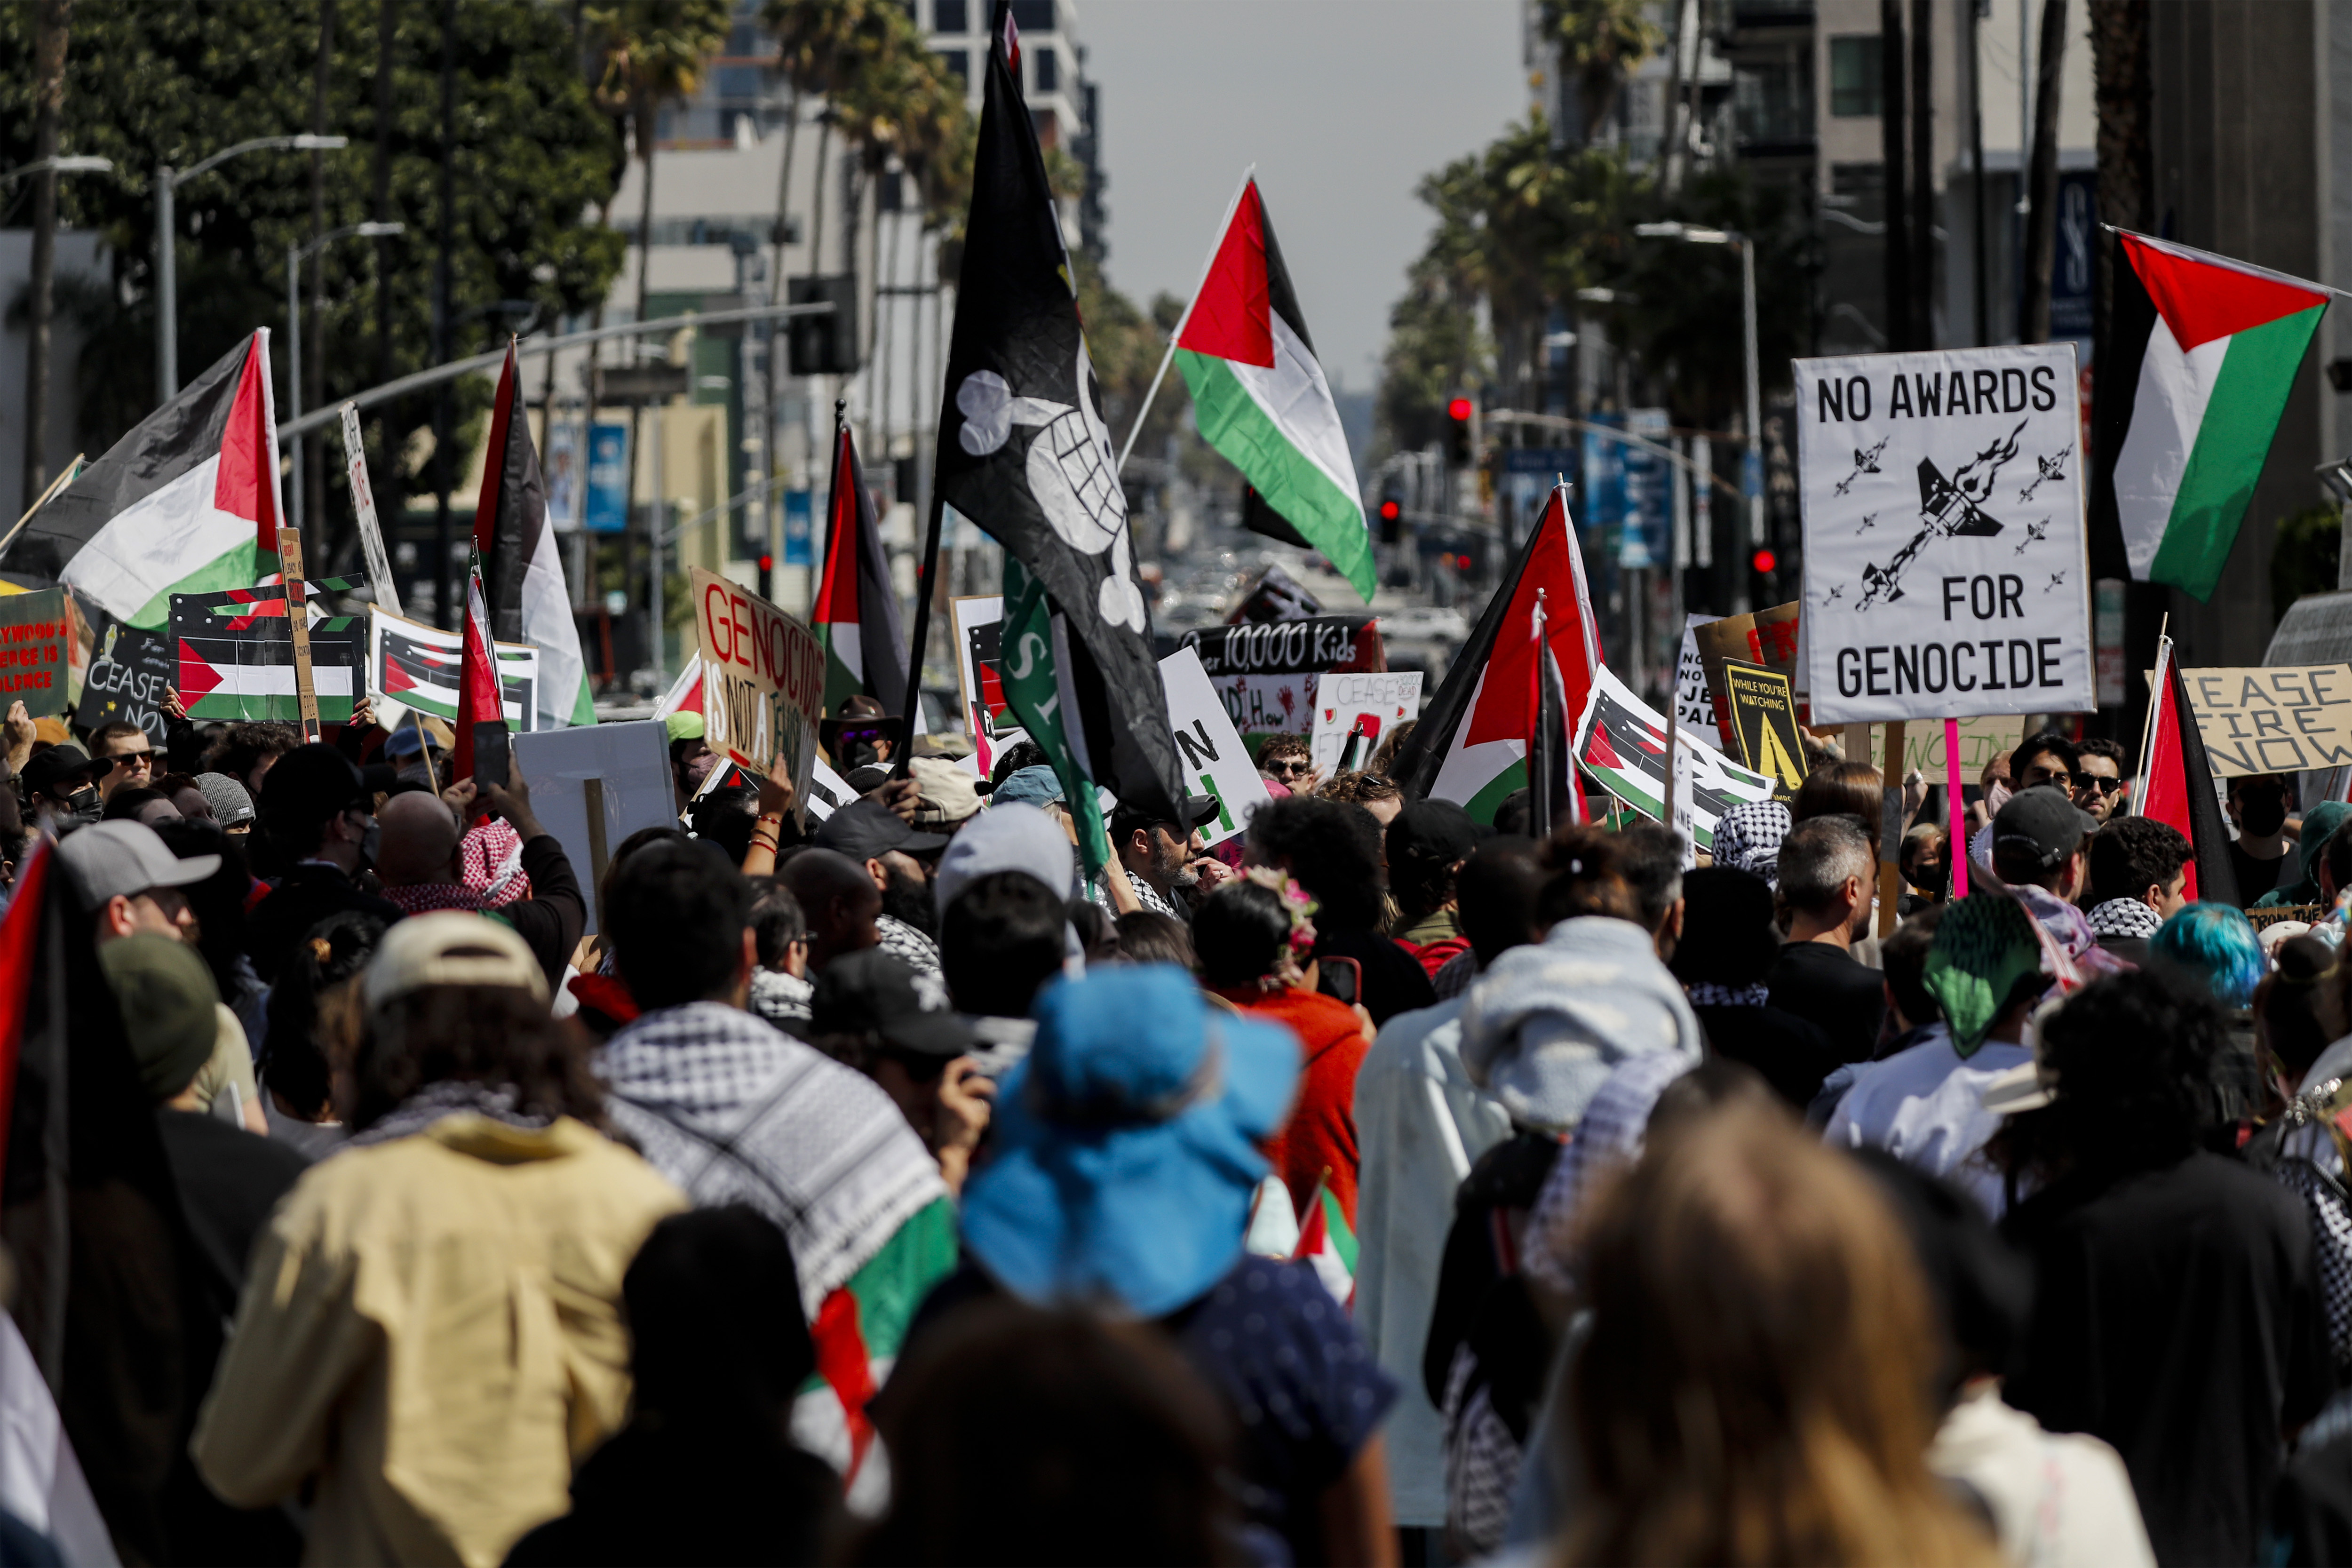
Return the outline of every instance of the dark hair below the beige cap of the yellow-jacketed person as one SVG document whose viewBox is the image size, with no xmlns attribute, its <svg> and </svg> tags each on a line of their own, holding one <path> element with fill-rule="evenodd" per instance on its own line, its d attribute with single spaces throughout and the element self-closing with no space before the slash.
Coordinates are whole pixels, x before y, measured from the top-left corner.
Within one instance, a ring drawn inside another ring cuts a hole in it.
<svg viewBox="0 0 2352 1568">
<path fill-rule="evenodd" d="M 365 1131 L 428 1084 L 510 1088 L 515 1110 L 604 1126 L 604 1091 L 579 1030 L 515 985 L 428 985 L 358 1018 L 343 1041 L 353 1105 Z"/>
</svg>

